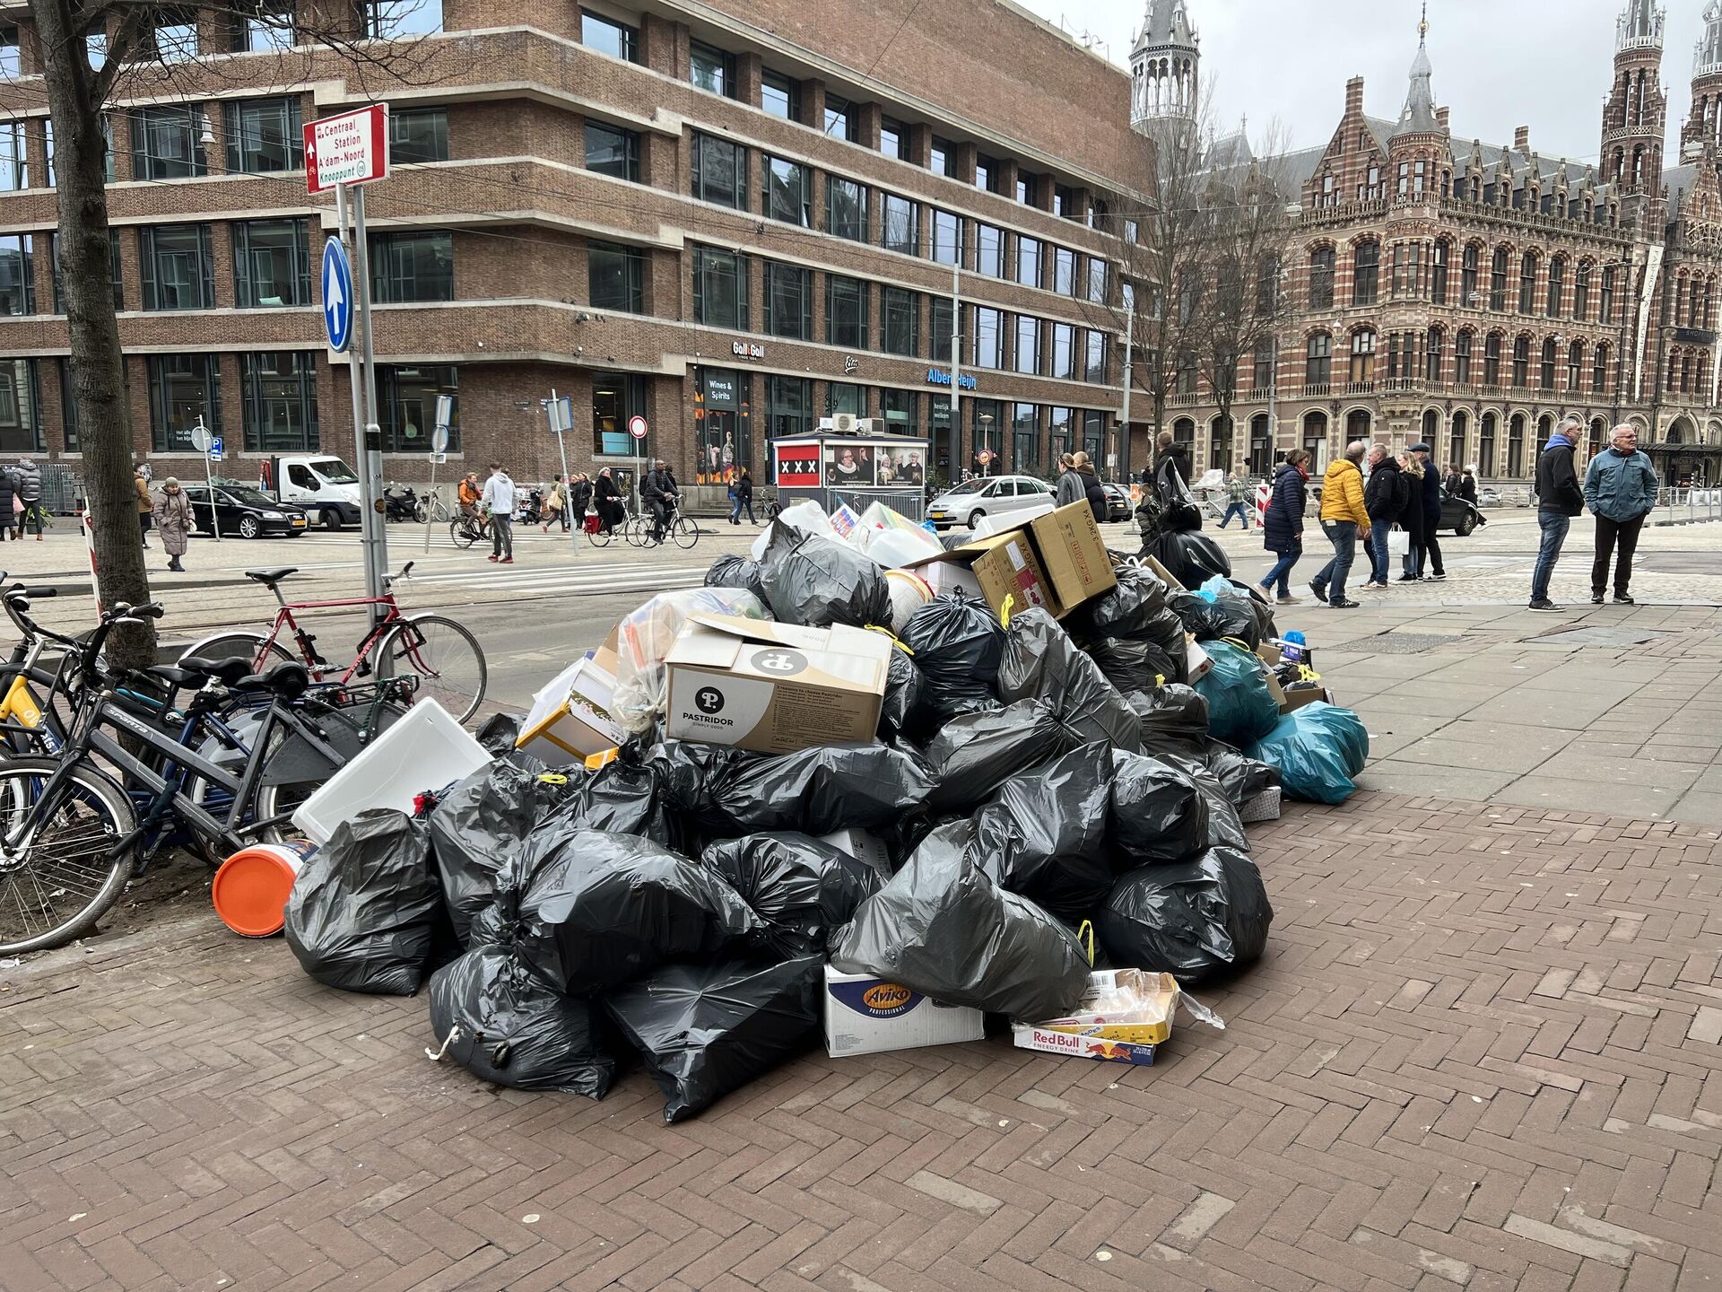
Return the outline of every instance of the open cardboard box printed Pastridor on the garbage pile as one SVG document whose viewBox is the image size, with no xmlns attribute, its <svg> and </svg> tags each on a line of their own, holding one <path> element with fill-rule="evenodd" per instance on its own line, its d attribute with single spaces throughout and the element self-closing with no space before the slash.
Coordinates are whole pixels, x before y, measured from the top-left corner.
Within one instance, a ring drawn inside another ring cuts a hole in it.
<svg viewBox="0 0 1722 1292">
<path fill-rule="evenodd" d="M 758 753 L 868 742 L 892 649 L 883 632 L 842 624 L 691 615 L 665 656 L 666 734 Z"/>
</svg>

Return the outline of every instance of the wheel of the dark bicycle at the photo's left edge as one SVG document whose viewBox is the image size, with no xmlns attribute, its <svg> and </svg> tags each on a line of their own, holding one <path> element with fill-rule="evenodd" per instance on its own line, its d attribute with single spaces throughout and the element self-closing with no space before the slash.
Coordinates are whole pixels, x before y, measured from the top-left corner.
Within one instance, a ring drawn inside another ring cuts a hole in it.
<svg viewBox="0 0 1722 1292">
<path fill-rule="evenodd" d="M 107 856 L 136 827 L 124 791 L 79 763 L 36 804 L 57 768 L 52 758 L 0 765 L 0 835 L 34 822 L 15 849 L 0 846 L 0 954 L 88 934 L 131 879 L 131 849 Z"/>
</svg>

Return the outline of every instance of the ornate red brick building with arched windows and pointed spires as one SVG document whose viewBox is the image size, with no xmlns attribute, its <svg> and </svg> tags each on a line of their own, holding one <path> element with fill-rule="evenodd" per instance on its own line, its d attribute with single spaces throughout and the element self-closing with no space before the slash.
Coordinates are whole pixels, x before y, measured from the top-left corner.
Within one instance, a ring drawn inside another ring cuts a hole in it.
<svg viewBox="0 0 1722 1292">
<path fill-rule="evenodd" d="M 1195 372 L 1171 400 L 1193 460 L 1261 475 L 1295 446 L 1324 463 L 1348 439 L 1426 439 L 1443 465 L 1524 482 L 1576 412 L 1588 451 L 1631 420 L 1665 477 L 1719 479 L 1722 5 L 1703 21 L 1676 169 L 1650 0 L 1617 24 L 1596 162 L 1543 157 L 1524 127 L 1510 146 L 1455 138 L 1421 40 L 1397 119 L 1369 115 L 1352 78 L 1328 143 L 1283 158 L 1288 317 L 1240 365 L 1236 434 Z M 1193 60 L 1188 24 L 1183 40 Z"/>
</svg>

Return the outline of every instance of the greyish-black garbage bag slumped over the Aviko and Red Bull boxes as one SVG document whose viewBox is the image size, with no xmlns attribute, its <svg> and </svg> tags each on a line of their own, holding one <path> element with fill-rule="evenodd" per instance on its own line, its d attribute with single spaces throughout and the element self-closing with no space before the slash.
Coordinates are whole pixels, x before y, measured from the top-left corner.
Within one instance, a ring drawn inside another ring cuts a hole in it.
<svg viewBox="0 0 1722 1292">
<path fill-rule="evenodd" d="M 973 844 L 973 822 L 926 835 L 837 935 L 832 966 L 1028 1022 L 1069 1013 L 1088 984 L 1076 935 L 988 879 Z"/>
</svg>

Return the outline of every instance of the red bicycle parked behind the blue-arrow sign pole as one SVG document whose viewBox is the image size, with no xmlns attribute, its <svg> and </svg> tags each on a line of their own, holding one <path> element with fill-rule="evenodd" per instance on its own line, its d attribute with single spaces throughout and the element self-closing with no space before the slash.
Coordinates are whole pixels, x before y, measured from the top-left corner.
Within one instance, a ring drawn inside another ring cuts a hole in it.
<svg viewBox="0 0 1722 1292">
<path fill-rule="evenodd" d="M 281 581 L 289 574 L 298 574 L 296 567 L 246 570 L 245 577 L 263 584 L 281 605 L 269 632 L 222 632 L 193 643 L 181 658 L 250 660 L 253 672 L 262 672 L 279 660 L 300 658 L 319 682 L 417 674 L 418 694 L 436 699 L 455 715 L 456 722 L 467 722 L 484 703 L 484 686 L 489 677 L 484 651 L 479 649 L 477 637 L 444 615 L 401 613 L 393 587 L 396 581 L 406 579 L 412 568 L 413 562 L 406 562 L 400 574 L 386 574 L 382 596 L 338 598 L 334 601 L 288 601 L 281 596 Z M 300 625 L 293 612 L 351 610 L 355 606 L 384 606 L 387 613 L 372 624 L 358 643 L 353 663 L 343 668 L 317 651 L 317 637 Z M 298 655 L 277 641 L 282 630 L 291 636 Z"/>
</svg>

